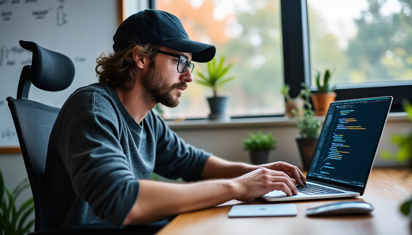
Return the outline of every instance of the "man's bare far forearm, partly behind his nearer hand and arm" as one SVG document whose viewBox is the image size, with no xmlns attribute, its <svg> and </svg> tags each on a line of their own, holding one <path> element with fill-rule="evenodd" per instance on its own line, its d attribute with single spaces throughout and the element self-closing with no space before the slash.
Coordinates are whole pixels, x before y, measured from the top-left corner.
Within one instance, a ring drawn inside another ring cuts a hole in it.
<svg viewBox="0 0 412 235">
<path fill-rule="evenodd" d="M 234 163 L 216 156 L 210 156 L 202 172 L 203 179 L 233 178 L 258 169 L 259 166 Z"/>
</svg>

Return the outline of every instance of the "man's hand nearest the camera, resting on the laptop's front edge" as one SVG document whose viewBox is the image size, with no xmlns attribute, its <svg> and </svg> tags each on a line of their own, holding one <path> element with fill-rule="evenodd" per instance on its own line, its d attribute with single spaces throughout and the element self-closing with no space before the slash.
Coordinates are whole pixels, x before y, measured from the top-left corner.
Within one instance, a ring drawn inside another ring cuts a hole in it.
<svg viewBox="0 0 412 235">
<path fill-rule="evenodd" d="M 297 194 L 296 181 L 285 172 L 259 168 L 245 175 L 232 179 L 239 189 L 236 200 L 258 198 L 274 190 L 281 190 L 288 196 Z"/>
</svg>

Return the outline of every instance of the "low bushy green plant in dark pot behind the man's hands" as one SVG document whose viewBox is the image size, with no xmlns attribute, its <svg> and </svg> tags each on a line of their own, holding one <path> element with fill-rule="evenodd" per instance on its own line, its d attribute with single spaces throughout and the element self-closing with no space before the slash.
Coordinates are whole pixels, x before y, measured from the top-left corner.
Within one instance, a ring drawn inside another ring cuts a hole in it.
<svg viewBox="0 0 412 235">
<path fill-rule="evenodd" d="M 275 150 L 276 140 L 272 133 L 266 135 L 259 130 L 257 134 L 250 133 L 243 141 L 245 150 L 250 151 L 250 159 L 253 165 L 268 163 L 269 151 Z"/>
</svg>

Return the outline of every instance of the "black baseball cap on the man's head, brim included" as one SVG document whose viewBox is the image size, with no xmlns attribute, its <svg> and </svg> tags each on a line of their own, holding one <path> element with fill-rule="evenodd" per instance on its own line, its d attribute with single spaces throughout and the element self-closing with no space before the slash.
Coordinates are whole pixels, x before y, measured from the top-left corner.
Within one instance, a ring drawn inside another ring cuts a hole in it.
<svg viewBox="0 0 412 235">
<path fill-rule="evenodd" d="M 213 59 L 213 45 L 192 41 L 180 20 L 169 12 L 146 9 L 124 20 L 113 36 L 113 50 L 129 47 L 131 42 L 147 44 L 158 42 L 176 51 L 191 52 L 192 61 L 208 62 Z"/>
</svg>

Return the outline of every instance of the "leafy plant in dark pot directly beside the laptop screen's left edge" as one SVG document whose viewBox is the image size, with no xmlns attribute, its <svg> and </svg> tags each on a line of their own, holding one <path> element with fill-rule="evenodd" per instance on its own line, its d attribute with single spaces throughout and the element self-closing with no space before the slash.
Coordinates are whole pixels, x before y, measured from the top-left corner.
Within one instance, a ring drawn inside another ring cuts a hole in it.
<svg viewBox="0 0 412 235">
<path fill-rule="evenodd" d="M 312 105 L 309 103 L 309 96 L 311 92 L 305 85 L 306 84 L 302 84 L 305 89 L 301 91 L 305 96 L 302 114 L 298 114 L 296 110 L 293 110 L 292 112 L 296 115 L 296 126 L 300 135 L 300 137 L 295 137 L 295 140 L 299 148 L 303 168 L 304 170 L 309 170 L 310 163 L 316 149 L 316 144 L 318 142 L 321 122 L 315 119 Z"/>
</svg>

